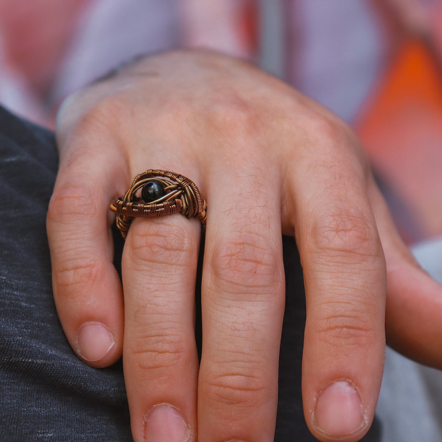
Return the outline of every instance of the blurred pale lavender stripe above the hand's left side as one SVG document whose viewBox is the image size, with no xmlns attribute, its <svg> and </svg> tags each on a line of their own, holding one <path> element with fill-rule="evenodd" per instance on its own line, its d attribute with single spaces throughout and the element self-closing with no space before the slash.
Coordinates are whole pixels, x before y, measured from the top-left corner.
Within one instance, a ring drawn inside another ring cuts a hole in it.
<svg viewBox="0 0 442 442">
<path fill-rule="evenodd" d="M 178 46 L 178 1 L 93 1 L 65 54 L 50 101 L 57 103 L 136 55 Z"/>
</svg>

